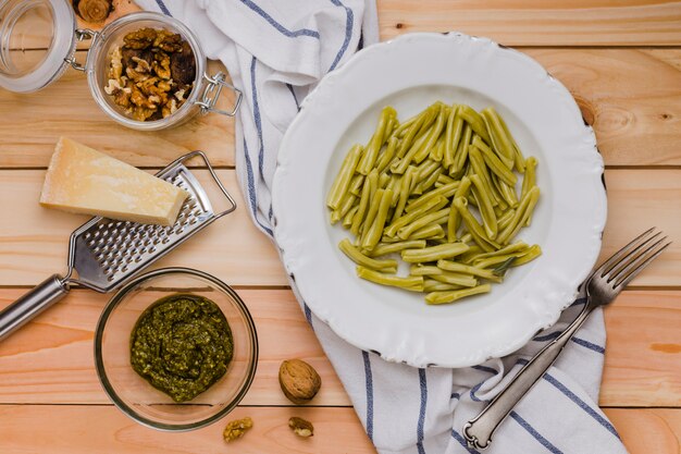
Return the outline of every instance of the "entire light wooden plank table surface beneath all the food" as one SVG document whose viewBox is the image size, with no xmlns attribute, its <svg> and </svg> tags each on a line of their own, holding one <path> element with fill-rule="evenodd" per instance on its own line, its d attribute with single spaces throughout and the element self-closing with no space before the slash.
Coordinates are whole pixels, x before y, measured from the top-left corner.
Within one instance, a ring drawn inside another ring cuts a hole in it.
<svg viewBox="0 0 681 454">
<path fill-rule="evenodd" d="M 120 8 L 117 13 L 134 9 Z M 603 254 L 649 225 L 676 243 L 606 310 L 600 406 L 632 453 L 679 453 L 681 439 L 681 2 L 663 0 L 380 0 L 383 39 L 458 29 L 515 46 L 574 95 L 605 156 L 608 224 Z M 79 52 L 81 58 L 84 52 Z M 218 64 L 213 64 L 216 69 Z M 166 132 L 109 121 L 73 71 L 34 95 L 0 91 L 0 307 L 65 269 L 70 232 L 86 218 L 38 206 L 53 145 L 66 135 L 154 170 L 206 150 L 228 188 L 233 123 L 209 115 Z M 205 170 L 197 170 L 206 177 Z M 158 266 L 196 267 L 235 286 L 256 319 L 258 375 L 231 417 L 250 415 L 246 439 L 224 445 L 224 424 L 169 434 L 115 409 L 92 365 L 92 330 L 108 296 L 75 290 L 0 343 L 0 452 L 9 453 L 368 453 L 348 396 L 305 322 L 276 253 L 245 205 Z M 278 389 L 281 360 L 300 357 L 324 385 L 293 407 Z M 289 416 L 317 434 L 289 433 Z"/>
</svg>

